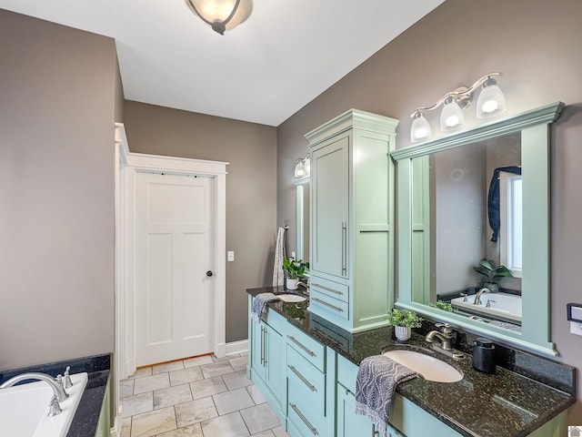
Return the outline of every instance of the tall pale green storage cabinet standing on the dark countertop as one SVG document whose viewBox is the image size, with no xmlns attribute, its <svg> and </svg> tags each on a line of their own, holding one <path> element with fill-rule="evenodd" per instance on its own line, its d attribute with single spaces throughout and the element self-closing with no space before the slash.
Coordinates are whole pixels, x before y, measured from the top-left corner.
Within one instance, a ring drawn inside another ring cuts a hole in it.
<svg viewBox="0 0 582 437">
<path fill-rule="evenodd" d="M 351 109 L 306 134 L 309 310 L 356 332 L 386 324 L 394 284 L 394 118 Z"/>
</svg>

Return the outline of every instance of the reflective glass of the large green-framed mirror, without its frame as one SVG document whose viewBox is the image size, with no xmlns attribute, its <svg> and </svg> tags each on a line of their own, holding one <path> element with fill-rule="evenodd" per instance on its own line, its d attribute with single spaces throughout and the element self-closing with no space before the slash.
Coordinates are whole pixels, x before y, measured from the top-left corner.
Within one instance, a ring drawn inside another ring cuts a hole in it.
<svg viewBox="0 0 582 437">
<path fill-rule="evenodd" d="M 413 192 L 414 299 L 520 330 L 520 134 L 413 159 Z"/>
</svg>

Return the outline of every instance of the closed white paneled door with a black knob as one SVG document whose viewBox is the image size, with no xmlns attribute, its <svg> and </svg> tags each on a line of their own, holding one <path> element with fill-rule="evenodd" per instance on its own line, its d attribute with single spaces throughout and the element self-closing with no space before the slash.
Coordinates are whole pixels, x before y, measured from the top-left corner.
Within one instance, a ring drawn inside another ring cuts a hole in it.
<svg viewBox="0 0 582 437">
<path fill-rule="evenodd" d="M 135 363 L 213 351 L 215 178 L 135 175 Z"/>
</svg>

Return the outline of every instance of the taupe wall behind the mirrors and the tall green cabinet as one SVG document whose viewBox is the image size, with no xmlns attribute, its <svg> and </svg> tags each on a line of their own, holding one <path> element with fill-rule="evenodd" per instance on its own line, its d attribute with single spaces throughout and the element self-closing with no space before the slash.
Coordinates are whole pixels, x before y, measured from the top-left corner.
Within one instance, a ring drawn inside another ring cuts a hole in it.
<svg viewBox="0 0 582 437">
<path fill-rule="evenodd" d="M 470 85 L 490 71 L 505 74 L 499 84 L 507 97 L 507 115 L 557 100 L 566 102 L 568 107 L 553 131 L 551 340 L 560 353 L 557 360 L 580 370 L 582 337 L 569 333 L 565 309 L 568 301 L 582 300 L 578 274 L 582 2 L 468 3 L 448 0 L 278 127 L 277 217 L 280 221 L 295 215 L 291 179 L 295 159 L 306 152 L 303 135 L 350 107 L 400 119 L 397 145 L 405 147 L 409 116 L 416 107 L 432 105 L 447 91 Z M 437 117 L 431 115 L 434 134 Z M 475 123 L 474 116 L 467 117 L 467 126 Z M 581 401 L 569 422 L 582 423 Z"/>
</svg>

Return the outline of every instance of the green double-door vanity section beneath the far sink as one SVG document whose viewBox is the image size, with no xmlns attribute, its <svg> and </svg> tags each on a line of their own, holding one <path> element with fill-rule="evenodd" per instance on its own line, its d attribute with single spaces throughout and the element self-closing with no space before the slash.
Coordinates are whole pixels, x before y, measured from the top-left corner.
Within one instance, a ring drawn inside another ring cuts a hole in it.
<svg viewBox="0 0 582 437">
<path fill-rule="evenodd" d="M 275 311 L 267 311 L 259 322 L 249 319 L 249 378 L 282 423 L 286 421 L 286 324 Z"/>
</svg>

